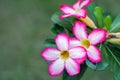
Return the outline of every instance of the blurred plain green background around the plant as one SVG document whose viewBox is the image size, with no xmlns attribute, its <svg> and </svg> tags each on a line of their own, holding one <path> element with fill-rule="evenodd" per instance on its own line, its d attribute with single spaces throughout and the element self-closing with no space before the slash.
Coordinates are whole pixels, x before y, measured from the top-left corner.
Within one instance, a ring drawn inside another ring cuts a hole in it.
<svg viewBox="0 0 120 80">
<path fill-rule="evenodd" d="M 0 0 L 0 80 L 61 80 L 48 75 L 40 56 L 50 33 L 51 15 L 76 0 Z M 95 0 L 116 16 L 120 0 Z M 113 80 L 111 73 L 87 69 L 81 80 Z"/>
</svg>

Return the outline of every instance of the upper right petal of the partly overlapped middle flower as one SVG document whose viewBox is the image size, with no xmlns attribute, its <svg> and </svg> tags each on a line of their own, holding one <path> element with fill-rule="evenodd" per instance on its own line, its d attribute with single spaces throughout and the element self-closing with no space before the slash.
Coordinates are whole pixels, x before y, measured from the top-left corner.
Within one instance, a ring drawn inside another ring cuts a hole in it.
<svg viewBox="0 0 120 80">
<path fill-rule="evenodd" d="M 105 41 L 106 34 L 107 34 L 106 30 L 97 28 L 90 33 L 90 35 L 88 36 L 88 40 L 90 41 L 91 44 L 96 45 Z"/>
</svg>

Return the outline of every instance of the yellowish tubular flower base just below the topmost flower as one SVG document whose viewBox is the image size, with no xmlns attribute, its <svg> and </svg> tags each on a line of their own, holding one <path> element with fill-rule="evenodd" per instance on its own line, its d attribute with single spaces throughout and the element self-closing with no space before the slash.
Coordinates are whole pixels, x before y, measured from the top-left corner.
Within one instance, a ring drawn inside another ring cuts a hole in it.
<svg viewBox="0 0 120 80">
<path fill-rule="evenodd" d="M 92 29 L 97 28 L 95 23 L 88 16 L 86 16 L 85 18 L 80 18 L 80 20 L 83 21 L 84 23 L 86 23 L 86 25 Z"/>
</svg>

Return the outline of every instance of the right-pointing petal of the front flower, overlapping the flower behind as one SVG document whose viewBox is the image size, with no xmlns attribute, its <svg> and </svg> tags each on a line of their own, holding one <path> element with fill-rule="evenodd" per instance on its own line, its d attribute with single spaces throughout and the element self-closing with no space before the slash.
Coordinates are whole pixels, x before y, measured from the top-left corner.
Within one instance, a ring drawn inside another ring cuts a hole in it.
<svg viewBox="0 0 120 80">
<path fill-rule="evenodd" d="M 70 57 L 72 59 L 83 59 L 86 58 L 86 50 L 85 48 L 81 47 L 81 46 L 77 46 L 74 48 L 71 48 L 69 50 L 70 53 Z"/>
</svg>

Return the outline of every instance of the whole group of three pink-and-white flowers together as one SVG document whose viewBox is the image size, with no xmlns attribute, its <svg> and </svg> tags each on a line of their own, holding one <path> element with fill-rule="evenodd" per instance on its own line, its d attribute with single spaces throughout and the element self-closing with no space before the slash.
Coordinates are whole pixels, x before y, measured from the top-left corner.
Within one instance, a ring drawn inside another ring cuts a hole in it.
<svg viewBox="0 0 120 80">
<path fill-rule="evenodd" d="M 61 5 L 60 10 L 64 13 L 60 18 L 74 16 L 76 18 L 85 18 L 87 10 L 83 7 L 88 6 L 93 0 L 78 0 L 73 6 Z M 106 39 L 106 30 L 96 28 L 88 35 L 86 24 L 76 21 L 72 28 L 74 37 L 68 34 L 60 33 L 55 37 L 57 48 L 45 48 L 41 55 L 46 61 L 52 62 L 48 71 L 52 76 L 62 74 L 65 69 L 70 76 L 80 73 L 80 64 L 83 64 L 86 58 L 92 63 L 102 61 L 100 50 L 96 47 Z"/>
</svg>

